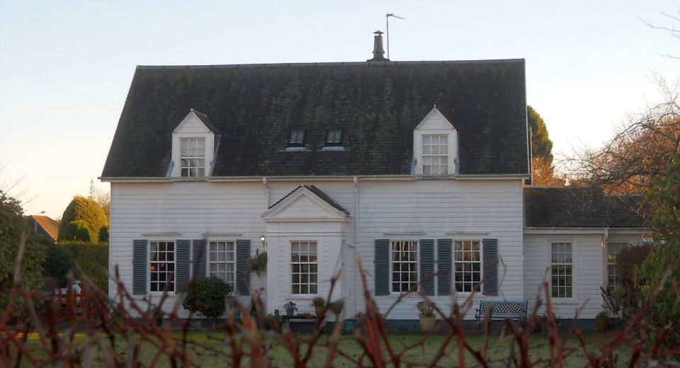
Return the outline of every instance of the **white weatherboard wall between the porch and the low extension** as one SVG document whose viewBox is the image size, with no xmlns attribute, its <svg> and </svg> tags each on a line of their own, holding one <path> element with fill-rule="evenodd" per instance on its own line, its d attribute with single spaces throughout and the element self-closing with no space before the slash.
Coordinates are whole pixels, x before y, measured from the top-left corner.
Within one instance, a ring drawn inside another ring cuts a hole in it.
<svg viewBox="0 0 680 368">
<path fill-rule="evenodd" d="M 453 238 L 482 240 L 497 238 L 499 256 L 498 297 L 488 299 L 522 299 L 522 188 L 521 180 L 414 180 L 378 183 L 364 181 L 360 185 L 359 255 L 373 289 L 374 241 L 377 238 L 409 240 L 421 238 Z M 409 235 L 422 232 L 424 235 Z M 447 234 L 476 232 L 477 234 Z M 404 235 L 399 235 L 404 233 Z M 488 233 L 488 234 L 486 234 Z M 483 275 L 482 275 L 483 277 Z M 459 301 L 467 295 L 460 294 Z M 397 295 L 376 297 L 385 313 Z M 451 297 L 432 297 L 448 312 Z M 409 297 L 392 309 L 387 318 L 417 319 L 419 297 Z M 363 300 L 360 299 L 363 308 Z M 474 317 L 474 309 L 467 318 Z"/>
</svg>

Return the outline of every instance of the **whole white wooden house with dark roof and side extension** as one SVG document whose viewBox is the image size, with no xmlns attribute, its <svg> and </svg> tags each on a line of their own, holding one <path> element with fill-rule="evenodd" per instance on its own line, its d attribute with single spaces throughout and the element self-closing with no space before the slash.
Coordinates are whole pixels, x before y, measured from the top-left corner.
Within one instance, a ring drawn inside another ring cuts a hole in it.
<svg viewBox="0 0 680 368">
<path fill-rule="evenodd" d="M 101 176 L 111 270 L 152 300 L 204 275 L 244 301 L 263 288 L 269 313 L 312 311 L 341 270 L 331 299 L 350 316 L 358 260 L 382 311 L 421 280 L 446 310 L 473 289 L 533 301 L 546 277 L 559 314 L 594 318 L 608 253 L 645 229 L 612 198 L 525 185 L 523 59 L 381 58 L 137 67 Z M 388 318 L 417 319 L 418 300 Z"/>
</svg>

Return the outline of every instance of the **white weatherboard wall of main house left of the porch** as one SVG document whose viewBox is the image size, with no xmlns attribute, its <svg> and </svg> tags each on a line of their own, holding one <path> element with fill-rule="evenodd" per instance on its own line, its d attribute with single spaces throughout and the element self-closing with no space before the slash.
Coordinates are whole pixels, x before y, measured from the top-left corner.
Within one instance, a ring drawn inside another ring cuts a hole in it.
<svg viewBox="0 0 680 368">
<path fill-rule="evenodd" d="M 265 210 L 266 195 L 261 183 L 112 183 L 109 265 L 111 270 L 118 265 L 120 277 L 131 291 L 135 239 L 200 239 L 205 238 L 205 233 L 241 233 L 221 238 L 250 239 L 254 254 L 256 248 L 262 248 L 260 236 L 265 229 L 260 215 Z M 220 237 L 209 236 L 208 240 L 217 238 Z M 265 274 L 257 277 L 251 273 L 251 289 L 265 286 Z M 109 290 L 113 297 L 113 285 Z M 170 311 L 173 299 L 166 304 L 166 311 Z"/>
</svg>

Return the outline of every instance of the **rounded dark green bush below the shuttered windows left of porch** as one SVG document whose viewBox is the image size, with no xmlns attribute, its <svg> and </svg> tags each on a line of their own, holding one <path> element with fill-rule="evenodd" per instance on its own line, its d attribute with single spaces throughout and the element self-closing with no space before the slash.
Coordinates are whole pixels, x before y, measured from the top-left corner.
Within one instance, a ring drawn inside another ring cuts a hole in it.
<svg viewBox="0 0 680 368">
<path fill-rule="evenodd" d="M 184 294 L 184 309 L 215 321 L 225 312 L 229 285 L 219 277 L 198 277 L 183 284 L 180 292 Z"/>
</svg>

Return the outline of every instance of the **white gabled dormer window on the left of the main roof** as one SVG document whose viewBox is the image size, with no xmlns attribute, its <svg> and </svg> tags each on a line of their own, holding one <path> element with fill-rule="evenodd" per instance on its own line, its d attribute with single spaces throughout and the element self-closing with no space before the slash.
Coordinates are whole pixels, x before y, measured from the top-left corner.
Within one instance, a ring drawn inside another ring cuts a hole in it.
<svg viewBox="0 0 680 368">
<path fill-rule="evenodd" d="M 208 115 L 191 109 L 172 132 L 169 176 L 205 178 L 212 175 L 219 133 Z"/>
</svg>

